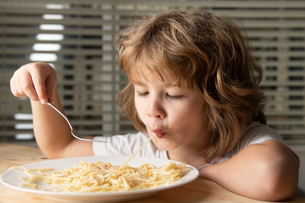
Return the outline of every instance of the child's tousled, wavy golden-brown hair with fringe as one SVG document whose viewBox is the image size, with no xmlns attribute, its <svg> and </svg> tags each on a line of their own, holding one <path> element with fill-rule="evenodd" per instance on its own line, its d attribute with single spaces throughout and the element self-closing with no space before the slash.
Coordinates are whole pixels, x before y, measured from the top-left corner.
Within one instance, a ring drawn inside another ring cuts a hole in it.
<svg viewBox="0 0 305 203">
<path fill-rule="evenodd" d="M 203 125 L 210 133 L 203 149 L 208 162 L 229 152 L 249 122 L 266 124 L 259 87 L 263 70 L 232 19 L 207 9 L 171 9 L 137 20 L 115 39 L 119 65 L 129 78 L 118 103 L 139 131 L 147 132 L 135 110 L 132 82 L 145 79 L 147 69 L 160 81 L 170 76 L 181 89 L 202 94 Z"/>
</svg>

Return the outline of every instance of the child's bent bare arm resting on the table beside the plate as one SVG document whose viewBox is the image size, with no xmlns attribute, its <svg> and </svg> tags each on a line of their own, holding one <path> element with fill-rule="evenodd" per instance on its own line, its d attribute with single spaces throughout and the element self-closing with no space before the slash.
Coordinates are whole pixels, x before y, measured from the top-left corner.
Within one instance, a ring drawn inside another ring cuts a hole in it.
<svg viewBox="0 0 305 203">
<path fill-rule="evenodd" d="M 284 144 L 267 140 L 202 169 L 200 175 L 245 197 L 279 201 L 294 195 L 298 171 L 298 157 Z"/>
</svg>

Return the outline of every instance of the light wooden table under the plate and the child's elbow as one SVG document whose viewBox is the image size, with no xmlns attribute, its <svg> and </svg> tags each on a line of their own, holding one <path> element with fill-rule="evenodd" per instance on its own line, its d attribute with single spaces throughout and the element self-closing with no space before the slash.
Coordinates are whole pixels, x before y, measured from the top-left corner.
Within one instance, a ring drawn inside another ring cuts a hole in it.
<svg viewBox="0 0 305 203">
<path fill-rule="evenodd" d="M 0 143 L 0 174 L 12 166 L 46 160 L 38 148 Z M 58 203 L 39 194 L 27 193 L 0 184 L 0 203 Z M 197 178 L 184 186 L 161 191 L 133 203 L 263 203 L 234 194 L 216 183 Z M 293 197 L 289 203 L 305 203 L 305 198 Z"/>
</svg>

